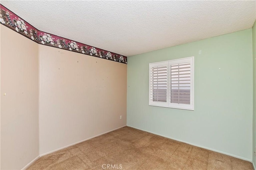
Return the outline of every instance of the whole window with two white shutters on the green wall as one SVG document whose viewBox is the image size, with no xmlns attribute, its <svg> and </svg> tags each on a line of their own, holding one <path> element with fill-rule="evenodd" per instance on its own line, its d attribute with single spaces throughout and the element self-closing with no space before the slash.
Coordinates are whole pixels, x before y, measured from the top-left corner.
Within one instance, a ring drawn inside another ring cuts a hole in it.
<svg viewBox="0 0 256 170">
<path fill-rule="evenodd" d="M 149 105 L 194 110 L 194 57 L 149 64 Z"/>
</svg>

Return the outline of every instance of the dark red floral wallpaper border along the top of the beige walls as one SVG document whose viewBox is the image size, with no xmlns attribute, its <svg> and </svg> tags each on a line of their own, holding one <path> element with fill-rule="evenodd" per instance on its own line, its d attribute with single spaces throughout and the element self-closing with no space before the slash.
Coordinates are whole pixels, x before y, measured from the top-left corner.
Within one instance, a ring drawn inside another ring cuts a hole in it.
<svg viewBox="0 0 256 170">
<path fill-rule="evenodd" d="M 0 4 L 0 23 L 38 44 L 127 64 L 127 57 L 40 31 Z"/>
</svg>

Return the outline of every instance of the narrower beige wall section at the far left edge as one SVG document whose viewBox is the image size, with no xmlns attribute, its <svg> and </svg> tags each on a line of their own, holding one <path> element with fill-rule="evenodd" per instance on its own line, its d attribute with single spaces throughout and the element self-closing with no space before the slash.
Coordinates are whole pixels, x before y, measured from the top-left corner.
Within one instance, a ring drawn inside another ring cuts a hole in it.
<svg viewBox="0 0 256 170">
<path fill-rule="evenodd" d="M 21 169 L 39 152 L 38 44 L 0 27 L 1 169 Z"/>
</svg>

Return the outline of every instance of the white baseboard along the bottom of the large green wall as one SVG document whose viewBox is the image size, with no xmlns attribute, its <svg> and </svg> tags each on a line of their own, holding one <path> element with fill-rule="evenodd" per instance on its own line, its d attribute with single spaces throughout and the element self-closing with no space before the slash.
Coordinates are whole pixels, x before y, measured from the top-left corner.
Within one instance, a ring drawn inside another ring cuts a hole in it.
<svg viewBox="0 0 256 170">
<path fill-rule="evenodd" d="M 189 143 L 189 142 L 186 142 L 186 141 L 182 141 L 182 140 L 179 140 L 179 139 L 175 139 L 175 138 L 172 138 L 172 137 L 168 137 L 168 136 L 165 136 L 165 135 L 161 135 L 161 134 L 158 134 L 158 133 L 154 133 L 154 132 L 150 132 L 150 131 L 146 131 L 144 129 L 140 129 L 138 127 L 133 127 L 133 126 L 130 126 L 130 125 L 127 125 L 128 127 L 132 127 L 134 129 L 138 129 L 138 130 L 141 130 L 141 131 L 145 131 L 145 132 L 148 132 L 148 133 L 152 133 L 152 134 L 155 134 L 155 135 L 159 135 L 159 136 L 162 136 L 162 137 L 166 137 L 166 138 L 169 138 L 169 139 L 172 139 L 172 140 L 175 140 L 175 141 L 180 141 L 180 142 L 183 142 L 183 143 L 187 143 L 189 145 L 193 145 L 193 146 L 196 146 L 196 147 L 200 147 L 200 148 L 204 148 L 204 149 L 208 149 L 208 150 L 212 150 L 214 152 L 218 152 L 218 153 L 222 153 L 222 154 L 226 154 L 228 156 L 232 156 L 232 157 L 235 157 L 235 158 L 239 158 L 239 159 L 242 159 L 242 160 L 247 160 L 249 162 L 252 162 L 252 160 L 248 159 L 248 158 L 243 158 L 241 156 L 237 156 L 237 155 L 234 155 L 234 154 L 229 154 L 229 153 L 226 153 L 226 152 L 222 152 L 220 150 L 215 150 L 215 149 L 211 149 L 211 148 L 208 148 L 208 147 L 203 147 L 203 146 L 200 146 L 200 145 L 196 145 L 194 143 Z M 255 169 L 255 168 L 254 168 Z"/>
</svg>

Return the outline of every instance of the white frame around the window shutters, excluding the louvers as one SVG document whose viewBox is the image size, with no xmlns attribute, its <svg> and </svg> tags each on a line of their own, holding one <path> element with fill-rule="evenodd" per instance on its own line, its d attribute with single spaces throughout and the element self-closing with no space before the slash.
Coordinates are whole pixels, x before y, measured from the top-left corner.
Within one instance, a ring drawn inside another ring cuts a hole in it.
<svg viewBox="0 0 256 170">
<path fill-rule="evenodd" d="M 177 104 L 170 103 L 170 66 L 172 64 L 182 64 L 182 63 L 190 63 L 190 104 Z M 167 66 L 167 94 L 166 94 L 166 102 L 155 102 L 151 100 L 150 95 L 150 81 L 151 81 L 151 68 L 156 66 Z M 186 109 L 186 110 L 194 110 L 194 57 L 187 57 L 182 59 L 175 59 L 169 61 L 162 61 L 157 63 L 149 63 L 149 90 L 148 90 L 149 98 L 148 104 L 149 106 L 159 106 L 159 107 L 170 107 L 176 109 Z"/>
</svg>

